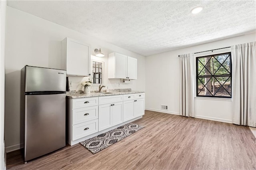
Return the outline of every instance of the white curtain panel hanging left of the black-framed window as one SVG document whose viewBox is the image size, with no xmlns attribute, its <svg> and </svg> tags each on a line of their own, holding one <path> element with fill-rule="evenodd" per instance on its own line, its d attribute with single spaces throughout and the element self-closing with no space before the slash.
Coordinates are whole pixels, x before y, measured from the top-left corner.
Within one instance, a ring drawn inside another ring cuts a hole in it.
<svg viewBox="0 0 256 170">
<path fill-rule="evenodd" d="M 180 115 L 195 117 L 194 54 L 180 55 Z"/>
</svg>

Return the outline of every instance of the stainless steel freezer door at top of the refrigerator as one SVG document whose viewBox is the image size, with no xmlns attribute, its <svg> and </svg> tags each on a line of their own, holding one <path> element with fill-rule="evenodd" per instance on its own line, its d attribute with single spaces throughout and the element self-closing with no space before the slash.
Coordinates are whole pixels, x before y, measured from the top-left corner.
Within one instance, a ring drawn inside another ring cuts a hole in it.
<svg viewBox="0 0 256 170">
<path fill-rule="evenodd" d="M 66 91 L 66 71 L 26 66 L 25 92 Z"/>
</svg>

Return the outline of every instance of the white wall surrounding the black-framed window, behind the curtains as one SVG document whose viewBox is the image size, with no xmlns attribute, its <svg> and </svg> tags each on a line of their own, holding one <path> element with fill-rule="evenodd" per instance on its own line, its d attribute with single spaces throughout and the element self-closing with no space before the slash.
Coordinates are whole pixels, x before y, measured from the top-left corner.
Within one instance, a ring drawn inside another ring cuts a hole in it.
<svg viewBox="0 0 256 170">
<path fill-rule="evenodd" d="M 188 47 L 146 57 L 146 109 L 179 114 L 180 61 L 178 55 L 196 53 L 235 44 L 254 42 L 256 34 L 248 34 L 194 47 Z M 160 105 L 168 105 L 168 111 Z M 231 123 L 231 99 L 196 97 L 196 117 Z"/>
</svg>

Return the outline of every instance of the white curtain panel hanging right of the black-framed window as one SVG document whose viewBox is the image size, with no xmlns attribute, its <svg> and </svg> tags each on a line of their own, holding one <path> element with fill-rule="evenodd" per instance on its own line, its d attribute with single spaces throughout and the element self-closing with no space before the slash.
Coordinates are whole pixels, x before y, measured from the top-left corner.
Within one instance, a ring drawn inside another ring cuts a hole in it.
<svg viewBox="0 0 256 170">
<path fill-rule="evenodd" d="M 256 127 L 256 42 L 234 45 L 232 123 Z"/>
</svg>

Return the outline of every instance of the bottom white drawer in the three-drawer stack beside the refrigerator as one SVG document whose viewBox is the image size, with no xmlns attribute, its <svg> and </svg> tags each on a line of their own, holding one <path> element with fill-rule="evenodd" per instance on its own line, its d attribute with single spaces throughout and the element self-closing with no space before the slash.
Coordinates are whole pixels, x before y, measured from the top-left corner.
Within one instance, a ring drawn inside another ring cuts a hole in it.
<svg viewBox="0 0 256 170">
<path fill-rule="evenodd" d="M 93 121 L 88 121 L 85 123 L 80 123 L 78 125 L 73 125 L 73 136 L 72 140 L 77 140 L 84 136 L 98 132 L 98 119 Z"/>
</svg>

